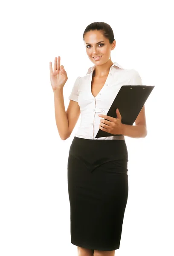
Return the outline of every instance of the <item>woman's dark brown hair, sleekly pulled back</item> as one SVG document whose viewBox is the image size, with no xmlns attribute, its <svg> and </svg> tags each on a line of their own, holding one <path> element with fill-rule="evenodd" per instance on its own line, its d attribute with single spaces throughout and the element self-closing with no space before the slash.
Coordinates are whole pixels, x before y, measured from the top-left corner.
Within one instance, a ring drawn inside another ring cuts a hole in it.
<svg viewBox="0 0 174 256">
<path fill-rule="evenodd" d="M 112 28 L 110 27 L 109 24 L 107 24 L 105 22 L 93 22 L 93 23 L 90 23 L 90 25 L 88 25 L 86 27 L 86 29 L 84 30 L 83 40 L 84 40 L 84 35 L 86 35 L 87 32 L 89 32 L 90 30 L 101 30 L 101 32 L 103 33 L 104 37 L 109 39 L 110 44 L 112 44 L 113 41 L 115 40 Z"/>
</svg>

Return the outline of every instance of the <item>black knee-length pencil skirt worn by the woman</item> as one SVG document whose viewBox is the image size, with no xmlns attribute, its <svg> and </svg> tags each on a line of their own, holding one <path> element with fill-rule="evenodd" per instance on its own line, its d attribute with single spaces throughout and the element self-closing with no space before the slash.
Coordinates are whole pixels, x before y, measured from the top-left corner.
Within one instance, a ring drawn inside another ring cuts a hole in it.
<svg viewBox="0 0 174 256">
<path fill-rule="evenodd" d="M 92 250 L 119 249 L 128 199 L 125 140 L 74 137 L 67 165 L 71 243 Z"/>
</svg>

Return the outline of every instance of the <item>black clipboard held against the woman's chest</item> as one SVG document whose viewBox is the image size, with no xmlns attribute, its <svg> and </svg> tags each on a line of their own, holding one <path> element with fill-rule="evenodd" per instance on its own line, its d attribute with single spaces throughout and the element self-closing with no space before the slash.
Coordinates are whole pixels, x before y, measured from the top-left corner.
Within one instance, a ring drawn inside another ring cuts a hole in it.
<svg viewBox="0 0 174 256">
<path fill-rule="evenodd" d="M 154 87 L 154 85 L 122 85 L 106 115 L 116 118 L 116 109 L 118 108 L 122 116 L 122 123 L 133 125 Z M 110 134 L 99 129 L 96 138 L 119 135 L 122 134 Z"/>
</svg>

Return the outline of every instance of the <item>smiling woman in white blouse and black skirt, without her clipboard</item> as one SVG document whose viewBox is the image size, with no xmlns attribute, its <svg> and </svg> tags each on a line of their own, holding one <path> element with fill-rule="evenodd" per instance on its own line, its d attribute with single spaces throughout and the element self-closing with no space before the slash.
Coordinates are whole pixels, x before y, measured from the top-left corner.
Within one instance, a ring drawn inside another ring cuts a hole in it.
<svg viewBox="0 0 174 256">
<path fill-rule="evenodd" d="M 145 107 L 136 125 L 122 124 L 118 109 L 116 118 L 107 116 L 107 111 L 122 85 L 142 85 L 142 81 L 136 70 L 125 70 L 111 61 L 116 41 L 107 23 L 91 23 L 83 39 L 94 66 L 75 80 L 67 111 L 63 97 L 67 73 L 59 56 L 55 57 L 54 71 L 50 62 L 55 119 L 62 140 L 70 137 L 81 113 L 68 157 L 71 243 L 77 246 L 78 256 L 114 256 L 120 246 L 128 199 L 125 136 L 145 137 L 147 129 Z M 113 136 L 96 138 L 99 129 Z"/>
</svg>

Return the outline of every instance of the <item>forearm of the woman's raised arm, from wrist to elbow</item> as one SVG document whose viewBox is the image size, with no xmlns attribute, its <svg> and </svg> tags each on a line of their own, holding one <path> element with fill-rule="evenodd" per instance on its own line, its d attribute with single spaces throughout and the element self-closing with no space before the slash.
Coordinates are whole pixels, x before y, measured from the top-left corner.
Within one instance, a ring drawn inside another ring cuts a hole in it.
<svg viewBox="0 0 174 256">
<path fill-rule="evenodd" d="M 69 125 L 64 105 L 63 88 L 53 92 L 55 102 L 55 121 L 58 128 L 58 133 L 61 137 L 61 140 L 65 140 L 67 138 Z"/>
</svg>

